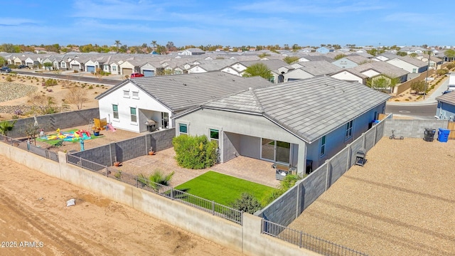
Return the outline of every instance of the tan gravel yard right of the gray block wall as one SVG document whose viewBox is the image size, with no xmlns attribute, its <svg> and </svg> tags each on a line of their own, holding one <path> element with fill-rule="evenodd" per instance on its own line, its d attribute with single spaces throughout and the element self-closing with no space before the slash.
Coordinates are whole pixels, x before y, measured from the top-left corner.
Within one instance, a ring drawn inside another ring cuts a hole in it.
<svg viewBox="0 0 455 256">
<path fill-rule="evenodd" d="M 455 141 L 382 138 L 294 220 L 368 255 L 455 255 Z"/>
</svg>

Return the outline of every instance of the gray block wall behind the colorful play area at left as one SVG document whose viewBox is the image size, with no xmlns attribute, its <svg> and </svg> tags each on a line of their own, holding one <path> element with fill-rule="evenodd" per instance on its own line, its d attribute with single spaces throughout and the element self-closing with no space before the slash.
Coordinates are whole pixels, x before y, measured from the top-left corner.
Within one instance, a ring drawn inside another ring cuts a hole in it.
<svg viewBox="0 0 455 256">
<path fill-rule="evenodd" d="M 67 129 L 88 124 L 90 119 L 100 118 L 100 111 L 98 108 L 91 108 L 87 110 L 76 110 L 71 112 L 61 112 L 56 114 L 45 114 L 37 116 L 38 126 L 44 129 L 45 132 L 53 132 L 56 129 Z M 10 121 L 11 122 L 11 121 Z M 33 117 L 16 119 L 14 129 L 8 133 L 9 137 L 21 138 L 26 137 L 24 132 L 27 127 L 35 123 Z"/>
</svg>

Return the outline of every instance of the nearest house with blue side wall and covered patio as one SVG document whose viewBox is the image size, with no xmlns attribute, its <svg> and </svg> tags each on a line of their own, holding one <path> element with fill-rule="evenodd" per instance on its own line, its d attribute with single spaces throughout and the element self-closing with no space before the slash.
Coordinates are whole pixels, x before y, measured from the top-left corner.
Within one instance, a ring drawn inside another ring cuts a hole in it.
<svg viewBox="0 0 455 256">
<path fill-rule="evenodd" d="M 384 113 L 388 95 L 330 77 L 252 87 L 173 117 L 176 136 L 206 135 L 220 161 L 236 156 L 316 168 Z"/>
</svg>

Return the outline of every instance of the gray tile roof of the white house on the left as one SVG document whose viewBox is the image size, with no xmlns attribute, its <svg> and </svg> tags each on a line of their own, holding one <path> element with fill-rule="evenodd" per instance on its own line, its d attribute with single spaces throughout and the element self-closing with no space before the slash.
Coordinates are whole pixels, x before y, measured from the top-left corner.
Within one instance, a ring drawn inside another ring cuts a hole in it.
<svg viewBox="0 0 455 256">
<path fill-rule="evenodd" d="M 209 73 L 164 75 L 149 78 L 124 80 L 109 90 L 95 97 L 99 100 L 118 87 L 132 82 L 147 92 L 151 97 L 166 105 L 173 112 L 187 110 L 211 100 L 233 95 L 249 87 L 273 85 L 259 77 L 243 78 L 237 75 L 216 71 Z"/>
</svg>

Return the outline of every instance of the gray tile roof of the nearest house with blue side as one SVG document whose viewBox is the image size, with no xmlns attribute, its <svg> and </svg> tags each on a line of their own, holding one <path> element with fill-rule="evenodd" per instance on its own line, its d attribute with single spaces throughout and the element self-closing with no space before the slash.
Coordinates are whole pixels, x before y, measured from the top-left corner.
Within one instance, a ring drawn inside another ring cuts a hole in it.
<svg viewBox="0 0 455 256">
<path fill-rule="evenodd" d="M 388 98 L 358 82 L 323 76 L 252 88 L 202 107 L 263 114 L 311 143 Z"/>
</svg>

